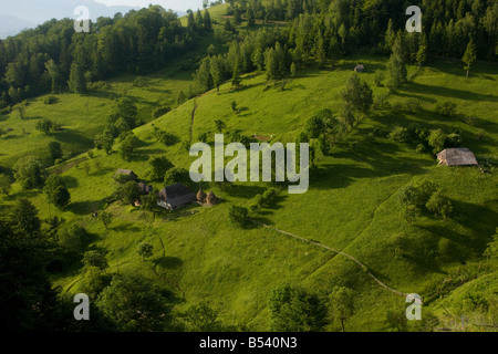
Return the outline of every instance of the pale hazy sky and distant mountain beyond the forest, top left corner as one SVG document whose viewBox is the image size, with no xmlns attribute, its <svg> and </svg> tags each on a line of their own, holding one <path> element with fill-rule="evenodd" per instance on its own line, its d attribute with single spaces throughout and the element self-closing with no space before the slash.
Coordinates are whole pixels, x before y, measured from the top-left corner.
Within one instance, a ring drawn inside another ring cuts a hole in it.
<svg viewBox="0 0 498 354">
<path fill-rule="evenodd" d="M 129 10 L 138 10 L 138 7 L 113 6 L 94 2 L 92 0 L 24 0 L 13 1 L 8 7 L 3 7 L 0 13 L 0 39 L 8 35 L 15 35 L 21 30 L 34 28 L 51 19 L 75 18 L 74 9 L 85 6 L 90 10 L 90 18 L 96 20 L 98 17 L 113 17 L 116 12 L 123 14 Z M 175 11 L 179 17 L 185 15 L 184 11 Z"/>
</svg>

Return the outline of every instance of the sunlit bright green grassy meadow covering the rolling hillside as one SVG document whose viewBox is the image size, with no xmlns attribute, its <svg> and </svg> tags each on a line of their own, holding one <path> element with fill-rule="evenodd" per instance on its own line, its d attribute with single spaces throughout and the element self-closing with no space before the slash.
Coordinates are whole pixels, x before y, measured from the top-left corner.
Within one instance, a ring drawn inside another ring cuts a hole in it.
<svg viewBox="0 0 498 354">
<path fill-rule="evenodd" d="M 217 14 L 211 12 L 211 15 Z M 41 218 L 56 214 L 77 220 L 90 235 L 89 247 L 105 252 L 111 271 L 133 271 L 170 289 L 178 296 L 178 311 L 209 300 L 221 309 L 225 322 L 263 331 L 269 316 L 267 295 L 276 285 L 290 282 L 323 294 L 329 294 L 334 285 L 347 285 L 355 291 L 356 313 L 346 327 L 390 330 L 385 312 L 403 306 L 405 299 L 381 288 L 350 259 L 271 229 L 230 226 L 229 206 L 247 206 L 268 184 L 237 184 L 229 191 L 215 188 L 221 202 L 214 208 L 191 206 L 164 212 L 154 221 L 149 214 L 113 204 L 107 207 L 114 215 L 108 230 L 91 216 L 93 210 L 105 207 L 102 199 L 114 190 L 112 175 L 117 168 L 133 169 L 141 179 L 147 180 L 148 158 L 164 155 L 175 166 L 188 169 L 193 162 L 188 152 L 180 143 L 170 147 L 157 143 L 153 137 L 154 127 L 174 134 L 179 142 L 190 139 L 190 129 L 194 140 L 201 133 L 210 133 L 212 139 L 214 122 L 222 119 L 227 131 L 240 129 L 249 136 L 271 137 L 271 142 L 293 142 L 315 112 L 331 108 L 339 113 L 340 92 L 352 69 L 363 63 L 366 73 L 361 77 L 373 87 L 375 97 L 386 97 L 388 106 L 383 104 L 363 119 L 333 147 L 330 156 L 319 157 L 307 194 L 288 195 L 283 189 L 277 205 L 262 209 L 255 218 L 354 256 L 375 277 L 398 291 L 430 295 L 435 285 L 457 269 L 474 267 L 481 260 L 498 220 L 496 174 L 437 166 L 430 154 L 416 153 L 414 146 L 387 137 L 372 138 L 369 133 L 375 125 L 387 133 L 397 124 L 409 123 L 459 129 L 464 146 L 471 148 L 479 162 L 496 164 L 498 66 L 476 64 L 467 81 L 460 63 L 439 61 L 423 67 L 396 94 L 387 95 L 387 88 L 374 85 L 374 71 L 385 62 L 383 56 L 357 54 L 333 67 L 300 71 L 284 91 L 273 85 L 266 87 L 261 74 L 246 75 L 240 90 L 232 91 L 227 83 L 219 94 L 212 91 L 190 100 L 154 122 L 149 122 L 153 107 L 170 104 L 172 97 L 188 86 L 190 73 L 149 75 L 144 77 L 143 87 L 133 86 L 134 76 L 122 76 L 92 95 L 59 95 L 60 101 L 53 106 L 44 105 L 43 97 L 33 100 L 27 108 L 27 119 L 21 122 L 17 113 L 11 113 L 0 121 L 1 128 L 15 126 L 12 133 L 0 138 L 4 152 L 0 156 L 2 165 L 39 150 L 51 139 L 62 142 L 65 150 L 74 153 L 91 148 L 92 137 L 105 123 L 110 98 L 120 95 L 135 97 L 139 117 L 148 122 L 134 132 L 143 146 L 131 162 L 124 162 L 117 153 L 106 156 L 95 152 L 92 159 L 64 171 L 62 176 L 72 197 L 65 211 L 48 208 L 43 195 L 23 191 L 17 185 L 12 196 L 3 198 L 3 204 L 28 197 L 40 210 Z M 411 67 L 409 72 L 415 70 Z M 406 103 L 414 98 L 418 100 L 419 107 L 406 108 Z M 232 101 L 240 113 L 232 112 Z M 461 114 L 475 118 L 471 122 L 445 118 L 434 113 L 437 101 L 455 102 Z M 53 136 L 34 132 L 39 116 L 62 123 L 64 132 Z M 30 134 L 21 134 L 22 129 Z M 486 132 L 481 140 L 477 138 L 480 129 Z M 353 142 L 356 148 L 352 148 Z M 83 168 L 85 164 L 90 165 L 89 174 Z M 433 180 L 442 187 L 455 208 L 452 218 L 423 217 L 412 225 L 403 219 L 398 192 L 421 179 Z M 153 185 L 156 189 L 162 187 L 160 183 Z M 211 189 L 207 184 L 203 187 Z M 143 240 L 154 244 L 154 256 L 145 262 L 136 253 Z M 396 257 L 396 250 L 402 250 L 403 257 Z M 486 288 L 481 282 L 496 287 L 496 274 L 484 277 L 476 285 L 469 282 L 457 288 L 446 303 L 429 303 L 429 308 L 443 311 L 450 299 L 463 296 L 465 287 Z M 53 280 L 70 293 L 85 290 L 79 267 L 54 274 Z M 339 325 L 331 323 L 328 330 L 336 331 Z"/>
</svg>

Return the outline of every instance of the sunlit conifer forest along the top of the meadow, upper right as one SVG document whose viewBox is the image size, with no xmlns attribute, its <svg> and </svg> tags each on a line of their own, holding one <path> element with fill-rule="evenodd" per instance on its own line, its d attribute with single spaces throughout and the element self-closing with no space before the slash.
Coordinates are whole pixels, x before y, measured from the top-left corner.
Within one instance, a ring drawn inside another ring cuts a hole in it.
<svg viewBox="0 0 498 354">
<path fill-rule="evenodd" d="M 195 75 L 197 92 L 219 90 L 228 80 L 238 87 L 240 74 L 255 70 L 266 72 L 268 81 L 280 80 L 294 74 L 298 67 L 333 65 L 362 48 L 392 54 L 386 69 L 393 88 L 407 81 L 408 63 L 421 66 L 439 55 L 458 58 L 467 64 L 468 76 L 475 60 L 496 60 L 498 55 L 495 1 L 419 1 L 423 33 L 405 31 L 406 9 L 395 0 L 277 0 L 267 6 L 257 0 L 228 2 L 227 13 L 234 18 L 227 19 L 215 37 L 221 42 L 228 39 L 229 51 L 200 62 Z M 447 11 L 437 10 L 435 3 Z M 278 18 L 289 21 L 286 28 L 262 27 L 237 33 L 242 17 L 249 24 L 252 12 L 260 19 L 270 8 L 287 11 Z"/>
</svg>

